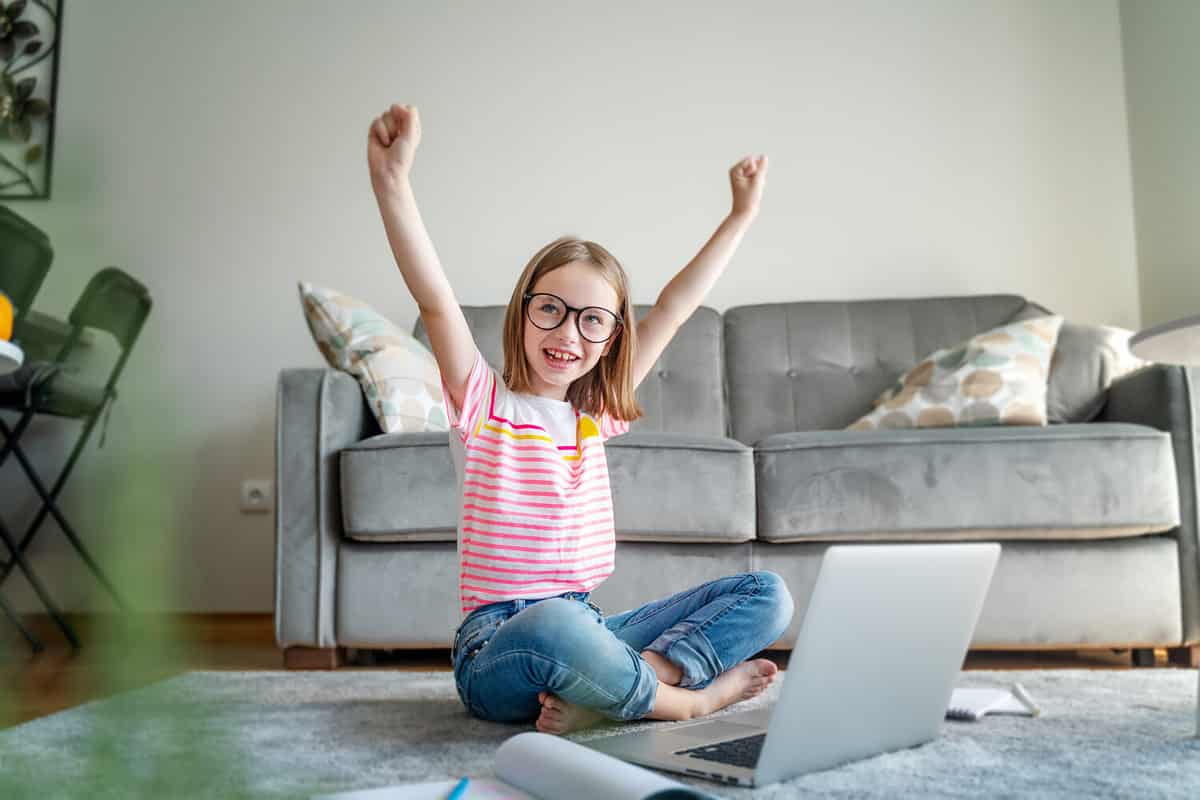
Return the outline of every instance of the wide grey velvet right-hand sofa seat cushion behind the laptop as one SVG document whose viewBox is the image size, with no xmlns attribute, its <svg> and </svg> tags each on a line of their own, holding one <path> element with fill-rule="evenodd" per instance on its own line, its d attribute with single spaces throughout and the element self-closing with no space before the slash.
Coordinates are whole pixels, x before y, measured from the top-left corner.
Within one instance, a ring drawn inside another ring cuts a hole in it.
<svg viewBox="0 0 1200 800">
<path fill-rule="evenodd" d="M 757 443 L 758 539 L 1111 539 L 1180 523 L 1168 433 L 1139 425 L 816 431 Z"/>
</svg>

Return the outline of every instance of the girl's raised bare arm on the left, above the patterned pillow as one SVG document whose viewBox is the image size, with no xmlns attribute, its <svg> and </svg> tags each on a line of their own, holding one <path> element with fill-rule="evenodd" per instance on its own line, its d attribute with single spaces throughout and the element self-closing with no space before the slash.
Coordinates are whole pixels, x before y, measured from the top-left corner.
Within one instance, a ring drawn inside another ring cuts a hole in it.
<svg viewBox="0 0 1200 800">
<path fill-rule="evenodd" d="M 371 122 L 367 166 L 396 265 L 416 301 L 450 398 L 461 409 L 475 362 L 475 339 L 421 222 L 408 180 L 420 142 L 416 107 L 392 104 Z"/>
</svg>

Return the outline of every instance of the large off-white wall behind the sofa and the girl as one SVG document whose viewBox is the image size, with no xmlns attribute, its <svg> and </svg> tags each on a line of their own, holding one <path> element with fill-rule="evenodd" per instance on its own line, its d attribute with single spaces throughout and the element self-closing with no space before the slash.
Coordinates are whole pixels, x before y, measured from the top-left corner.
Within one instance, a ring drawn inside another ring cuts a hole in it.
<svg viewBox="0 0 1200 800">
<path fill-rule="evenodd" d="M 766 152 L 713 307 L 1013 291 L 1135 327 L 1121 59 L 1116 0 L 68 2 L 54 197 L 12 204 L 58 251 L 37 307 L 104 264 L 156 307 L 65 505 L 97 547 L 168 548 L 151 602 L 271 608 L 272 523 L 238 495 L 274 470 L 278 371 L 322 363 L 295 283 L 415 317 L 365 167 L 394 101 L 420 108 L 414 186 L 466 303 L 506 301 L 564 233 L 652 302 Z M 47 468 L 60 427 L 35 429 Z M 40 545 L 65 606 L 108 607 L 56 530 Z"/>
</svg>

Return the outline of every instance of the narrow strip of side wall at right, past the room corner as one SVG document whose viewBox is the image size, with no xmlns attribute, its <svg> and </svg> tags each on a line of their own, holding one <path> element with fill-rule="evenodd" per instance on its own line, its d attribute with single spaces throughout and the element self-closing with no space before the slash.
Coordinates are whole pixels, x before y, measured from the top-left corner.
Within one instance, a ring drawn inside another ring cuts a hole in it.
<svg viewBox="0 0 1200 800">
<path fill-rule="evenodd" d="M 1200 2 L 1121 4 L 1146 325 L 1200 314 Z"/>
</svg>

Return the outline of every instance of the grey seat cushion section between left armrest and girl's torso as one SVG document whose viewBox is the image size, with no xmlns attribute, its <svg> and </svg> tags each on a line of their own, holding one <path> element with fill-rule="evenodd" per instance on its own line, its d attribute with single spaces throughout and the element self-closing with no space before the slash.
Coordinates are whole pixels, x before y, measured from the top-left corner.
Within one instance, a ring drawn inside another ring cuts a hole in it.
<svg viewBox="0 0 1200 800">
<path fill-rule="evenodd" d="M 347 539 L 457 541 L 458 479 L 444 431 L 384 433 L 343 449 L 340 458 Z"/>
</svg>

